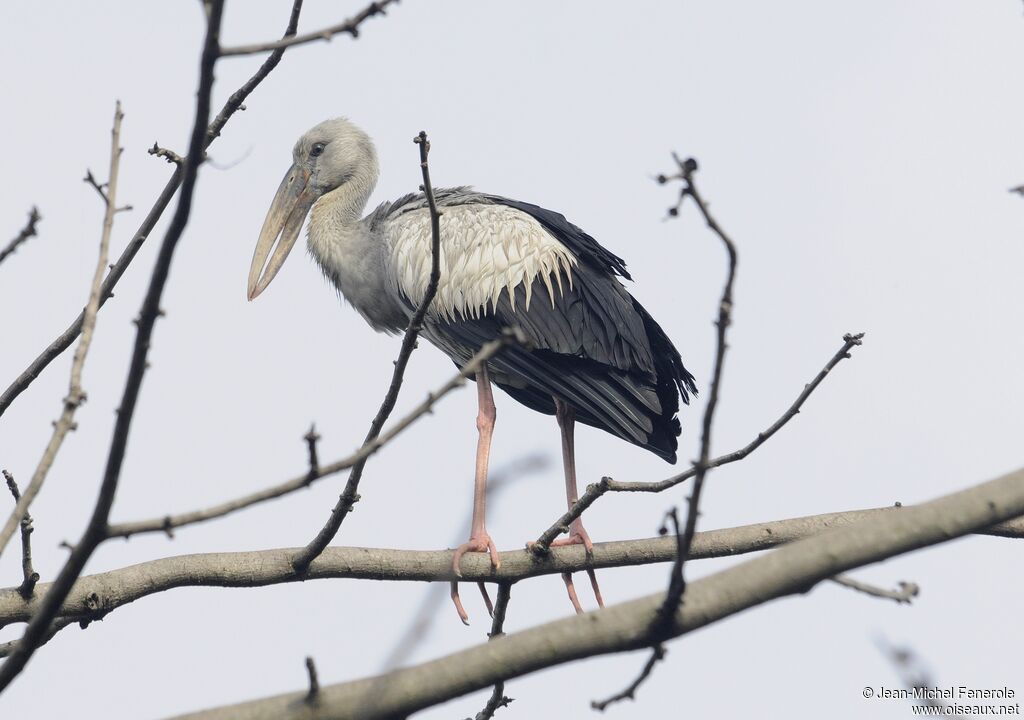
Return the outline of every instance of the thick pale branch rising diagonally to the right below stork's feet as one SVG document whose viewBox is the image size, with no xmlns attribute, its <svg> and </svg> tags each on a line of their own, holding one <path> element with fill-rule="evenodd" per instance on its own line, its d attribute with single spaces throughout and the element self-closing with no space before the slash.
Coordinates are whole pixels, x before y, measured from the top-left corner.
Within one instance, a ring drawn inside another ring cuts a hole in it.
<svg viewBox="0 0 1024 720">
<path fill-rule="evenodd" d="M 863 522 L 792 543 L 690 583 L 672 635 L 679 636 L 750 607 L 803 594 L 817 583 L 919 548 L 947 542 L 1024 514 L 1024 470 L 915 507 L 880 514 Z M 581 553 L 582 554 L 582 553 Z M 323 717 L 361 720 L 406 717 L 496 682 L 583 658 L 644 647 L 651 620 L 665 595 L 572 616 L 499 638 L 386 676 L 388 693 L 373 697 L 380 677 L 322 686 Z M 305 718 L 292 692 L 180 716 L 179 720 L 290 720 Z M 358 711 L 358 712 L 357 712 Z"/>
</svg>

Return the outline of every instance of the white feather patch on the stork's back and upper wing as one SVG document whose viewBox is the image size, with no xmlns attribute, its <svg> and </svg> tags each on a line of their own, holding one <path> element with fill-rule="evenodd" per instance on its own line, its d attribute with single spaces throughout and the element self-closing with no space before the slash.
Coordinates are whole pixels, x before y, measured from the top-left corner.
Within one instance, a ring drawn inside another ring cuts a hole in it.
<svg viewBox="0 0 1024 720">
<path fill-rule="evenodd" d="M 562 274 L 572 288 L 577 258 L 530 215 L 505 205 L 455 205 L 441 208 L 440 284 L 431 314 L 443 321 L 479 317 L 494 310 L 508 290 L 515 310 L 515 288 L 523 286 L 529 309 L 531 285 L 540 279 L 552 307 L 562 294 Z M 389 219 L 387 242 L 391 280 L 419 303 L 430 279 L 430 214 L 404 212 Z M 554 283 L 552 283 L 554 281 Z"/>
</svg>

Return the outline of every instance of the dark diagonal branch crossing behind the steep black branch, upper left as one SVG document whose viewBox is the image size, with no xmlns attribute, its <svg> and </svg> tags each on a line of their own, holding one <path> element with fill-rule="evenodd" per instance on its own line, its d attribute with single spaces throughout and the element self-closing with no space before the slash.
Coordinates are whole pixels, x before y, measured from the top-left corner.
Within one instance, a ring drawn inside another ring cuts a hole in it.
<svg viewBox="0 0 1024 720">
<path fill-rule="evenodd" d="M 291 15 L 288 20 L 288 28 L 285 31 L 285 37 L 290 37 L 295 35 L 295 29 L 298 27 L 299 12 L 302 9 L 302 0 L 294 0 L 292 4 Z M 216 139 L 221 131 L 224 129 L 224 125 L 227 121 L 234 115 L 239 110 L 244 108 L 244 102 L 246 98 L 252 93 L 256 87 L 263 82 L 267 75 L 270 74 L 278 63 L 281 61 L 281 57 L 284 54 L 285 49 L 281 48 L 274 50 L 270 55 L 263 61 L 259 70 L 245 82 L 238 90 L 236 90 L 231 96 L 224 103 L 220 113 L 214 118 L 213 122 L 210 123 L 210 127 L 207 128 L 206 142 L 204 143 L 204 152 L 209 149 L 210 143 Z M 114 297 L 114 288 L 117 286 L 118 281 L 121 280 L 128 266 L 131 264 L 132 260 L 135 259 L 138 251 L 142 248 L 142 244 L 145 243 L 150 234 L 153 232 L 153 228 L 156 227 L 160 218 L 163 216 L 164 211 L 167 209 L 168 205 L 171 203 L 171 199 L 174 194 L 177 193 L 178 187 L 181 186 L 181 179 L 183 177 L 183 168 L 181 166 L 176 166 L 174 173 L 167 180 L 167 184 L 160 192 L 157 197 L 156 202 L 153 207 L 150 208 L 150 212 L 146 213 L 145 218 L 142 220 L 142 224 L 139 225 L 135 235 L 132 236 L 131 241 L 128 246 L 121 253 L 121 257 L 118 258 L 117 262 L 111 266 L 111 271 L 108 273 L 106 279 L 103 281 L 102 292 L 100 293 L 100 306 L 103 305 L 109 299 Z M 75 338 L 79 336 L 82 332 L 82 327 L 85 322 L 85 311 L 79 313 L 78 317 L 68 326 L 53 342 L 51 342 L 47 347 L 39 354 L 36 359 L 32 361 L 28 368 L 18 375 L 14 381 L 0 394 L 0 416 L 4 414 L 10 404 L 14 401 L 18 395 L 20 395 L 26 388 L 31 385 L 36 378 L 46 369 L 46 367 L 52 363 L 56 357 L 58 357 L 65 350 L 71 347 L 72 343 L 75 342 Z"/>
</svg>

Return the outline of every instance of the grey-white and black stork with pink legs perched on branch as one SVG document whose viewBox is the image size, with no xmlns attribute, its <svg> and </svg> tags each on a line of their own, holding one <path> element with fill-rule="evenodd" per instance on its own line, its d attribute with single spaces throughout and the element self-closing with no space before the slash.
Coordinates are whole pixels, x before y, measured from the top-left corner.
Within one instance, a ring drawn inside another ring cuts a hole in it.
<svg viewBox="0 0 1024 720">
<path fill-rule="evenodd" d="M 308 215 L 307 248 L 326 278 L 375 331 L 404 332 L 432 266 L 428 201 L 423 192 L 407 195 L 364 217 L 378 177 L 374 142 L 349 120 L 326 120 L 304 133 L 260 230 L 249 299 L 281 270 Z M 688 404 L 697 388 L 668 335 L 623 285 L 632 280 L 626 262 L 562 214 L 469 186 L 433 195 L 440 212 L 440 280 L 423 336 L 460 368 L 507 328 L 517 328 L 525 339 L 490 357 L 471 378 L 478 440 L 470 538 L 453 556 L 460 577 L 467 552 L 485 552 L 492 566 L 500 566 L 485 523 L 494 385 L 555 416 L 568 507 L 579 497 L 575 423 L 675 463 L 679 401 Z M 571 522 L 567 538 L 552 544 L 583 545 L 588 556 L 593 551 L 581 518 Z M 593 570 L 589 577 L 603 607 Z M 582 612 L 571 576 L 563 581 Z M 480 589 L 489 606 L 482 583 Z M 468 624 L 458 583 L 452 599 Z"/>
</svg>

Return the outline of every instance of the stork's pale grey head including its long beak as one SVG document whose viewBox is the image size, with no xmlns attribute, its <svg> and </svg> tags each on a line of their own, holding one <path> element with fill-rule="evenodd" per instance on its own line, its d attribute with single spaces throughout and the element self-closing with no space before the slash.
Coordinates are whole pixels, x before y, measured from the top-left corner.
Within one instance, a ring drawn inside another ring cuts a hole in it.
<svg viewBox="0 0 1024 720">
<path fill-rule="evenodd" d="M 249 299 L 266 290 L 278 274 L 313 203 L 350 186 L 366 202 L 376 180 L 373 141 L 348 120 L 325 120 L 303 134 L 292 150 L 292 167 L 278 187 L 256 243 L 249 268 Z"/>
</svg>

